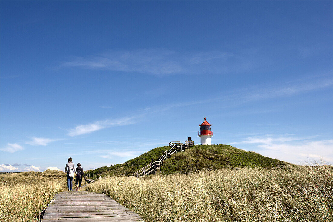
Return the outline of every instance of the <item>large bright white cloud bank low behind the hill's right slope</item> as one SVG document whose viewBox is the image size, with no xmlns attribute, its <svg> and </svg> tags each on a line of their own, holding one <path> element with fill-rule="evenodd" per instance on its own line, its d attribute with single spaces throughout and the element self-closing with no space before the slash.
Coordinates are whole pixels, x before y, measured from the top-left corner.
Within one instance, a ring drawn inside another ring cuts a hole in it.
<svg viewBox="0 0 333 222">
<path fill-rule="evenodd" d="M 233 144 L 251 144 L 251 146 L 245 145 L 247 150 L 256 148 L 261 155 L 295 164 L 321 160 L 333 163 L 333 140 L 313 140 L 315 137 L 265 135 L 248 137 L 242 142 Z"/>
</svg>

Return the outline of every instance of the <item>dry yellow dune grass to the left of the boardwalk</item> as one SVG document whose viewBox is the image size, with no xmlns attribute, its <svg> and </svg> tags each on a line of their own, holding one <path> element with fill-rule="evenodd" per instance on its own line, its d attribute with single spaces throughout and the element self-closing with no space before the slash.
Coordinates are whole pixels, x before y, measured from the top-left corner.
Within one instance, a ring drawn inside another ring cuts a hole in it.
<svg viewBox="0 0 333 222">
<path fill-rule="evenodd" d="M 65 190 L 59 171 L 0 174 L 0 221 L 35 222 L 54 195 Z"/>
</svg>

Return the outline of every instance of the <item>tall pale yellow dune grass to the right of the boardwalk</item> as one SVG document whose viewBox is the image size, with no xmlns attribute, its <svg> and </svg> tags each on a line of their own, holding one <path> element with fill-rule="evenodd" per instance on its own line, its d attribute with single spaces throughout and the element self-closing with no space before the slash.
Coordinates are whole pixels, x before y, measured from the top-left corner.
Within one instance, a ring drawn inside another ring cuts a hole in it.
<svg viewBox="0 0 333 222">
<path fill-rule="evenodd" d="M 148 222 L 333 221 L 328 166 L 108 177 L 86 189 L 109 195 Z"/>
</svg>

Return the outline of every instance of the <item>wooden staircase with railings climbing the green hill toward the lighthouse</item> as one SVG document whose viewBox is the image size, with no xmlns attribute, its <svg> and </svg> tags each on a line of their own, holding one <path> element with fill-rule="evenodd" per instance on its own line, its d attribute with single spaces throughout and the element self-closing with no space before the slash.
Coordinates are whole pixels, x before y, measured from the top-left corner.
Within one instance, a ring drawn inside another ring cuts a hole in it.
<svg viewBox="0 0 333 222">
<path fill-rule="evenodd" d="M 156 170 L 160 170 L 161 166 L 163 164 L 163 161 L 165 161 L 167 158 L 170 158 L 170 156 L 176 152 L 185 151 L 185 149 L 188 149 L 190 147 L 194 146 L 193 141 L 186 141 L 185 144 L 180 143 L 180 141 L 171 141 L 169 143 L 169 147 L 171 147 L 169 150 L 166 150 L 163 155 L 154 162 L 154 160 L 148 164 L 147 166 L 141 168 L 137 172 L 131 174 L 131 177 L 142 177 L 146 176 L 148 174 L 155 173 Z"/>
</svg>

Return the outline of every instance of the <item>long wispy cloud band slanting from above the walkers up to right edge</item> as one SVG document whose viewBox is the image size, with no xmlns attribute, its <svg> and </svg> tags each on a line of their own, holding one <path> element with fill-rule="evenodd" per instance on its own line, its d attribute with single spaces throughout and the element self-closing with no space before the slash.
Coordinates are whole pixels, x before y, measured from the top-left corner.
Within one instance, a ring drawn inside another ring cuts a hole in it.
<svg viewBox="0 0 333 222">
<path fill-rule="evenodd" d="M 251 87 L 251 88 L 243 88 L 238 89 L 233 92 L 230 92 L 226 95 L 217 95 L 212 97 L 211 99 L 204 100 L 195 100 L 195 101 L 186 101 L 186 102 L 178 102 L 172 104 L 163 104 L 157 105 L 154 107 L 147 107 L 142 110 L 137 110 L 137 112 L 143 113 L 142 115 L 147 115 L 156 112 L 163 112 L 175 107 L 184 107 L 184 106 L 193 106 L 199 105 L 203 103 L 210 102 L 222 102 L 223 107 L 235 107 L 240 106 L 244 103 L 249 103 L 252 101 L 264 100 L 275 97 L 288 97 L 295 96 L 297 94 L 306 93 L 309 91 L 320 90 L 324 88 L 328 88 L 333 86 L 333 78 L 331 76 L 325 78 L 312 77 L 310 79 L 303 79 L 294 82 L 289 82 L 285 84 L 277 84 L 264 87 Z M 267 110 L 254 110 L 246 113 L 263 113 L 263 112 L 273 112 L 276 109 L 267 109 Z M 233 112 L 234 113 L 234 112 Z M 103 121 L 95 121 L 90 124 L 78 125 L 73 129 L 68 130 L 69 136 L 78 136 L 83 134 L 88 134 L 91 132 L 95 132 L 104 128 L 112 127 L 112 126 L 120 126 L 120 125 L 130 125 L 135 123 L 135 117 L 125 117 L 119 119 L 107 119 Z"/>
</svg>

